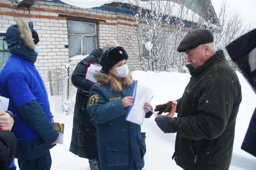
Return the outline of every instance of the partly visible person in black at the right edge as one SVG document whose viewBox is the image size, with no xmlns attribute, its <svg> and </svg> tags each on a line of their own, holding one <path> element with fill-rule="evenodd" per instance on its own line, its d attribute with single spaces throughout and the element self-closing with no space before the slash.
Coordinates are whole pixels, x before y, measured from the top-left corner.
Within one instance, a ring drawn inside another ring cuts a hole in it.
<svg viewBox="0 0 256 170">
<path fill-rule="evenodd" d="M 228 44 L 226 49 L 256 94 L 256 29 Z M 256 108 L 241 149 L 256 157 Z"/>
</svg>

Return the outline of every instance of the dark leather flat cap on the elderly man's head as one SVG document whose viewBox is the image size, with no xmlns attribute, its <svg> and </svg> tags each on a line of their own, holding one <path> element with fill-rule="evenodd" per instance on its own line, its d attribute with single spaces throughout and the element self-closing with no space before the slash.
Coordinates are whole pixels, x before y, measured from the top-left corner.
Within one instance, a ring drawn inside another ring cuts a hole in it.
<svg viewBox="0 0 256 170">
<path fill-rule="evenodd" d="M 214 39 L 211 31 L 205 28 L 197 28 L 191 32 L 188 32 L 188 34 L 182 38 L 177 51 L 184 52 L 192 50 L 201 44 L 212 43 L 213 40 Z"/>
</svg>

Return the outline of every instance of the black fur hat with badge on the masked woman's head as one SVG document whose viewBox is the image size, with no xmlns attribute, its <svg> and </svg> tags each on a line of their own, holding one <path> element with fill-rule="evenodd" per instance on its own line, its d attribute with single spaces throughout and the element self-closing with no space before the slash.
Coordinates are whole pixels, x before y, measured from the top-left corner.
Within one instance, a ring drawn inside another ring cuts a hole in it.
<svg viewBox="0 0 256 170">
<path fill-rule="evenodd" d="M 102 66 L 102 70 L 105 73 L 108 73 L 110 68 L 124 59 L 128 59 L 128 54 L 123 47 L 111 47 L 102 54 L 100 58 L 100 65 Z"/>
</svg>

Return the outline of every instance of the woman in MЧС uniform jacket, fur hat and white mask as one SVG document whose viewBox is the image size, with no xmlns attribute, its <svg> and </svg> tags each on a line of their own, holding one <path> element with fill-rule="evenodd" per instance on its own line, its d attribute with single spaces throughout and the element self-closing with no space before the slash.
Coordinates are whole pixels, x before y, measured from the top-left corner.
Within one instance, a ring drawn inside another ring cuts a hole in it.
<svg viewBox="0 0 256 170">
<path fill-rule="evenodd" d="M 125 120 L 127 107 L 134 105 L 130 95 L 135 84 L 127 59 L 121 46 L 106 50 L 100 58 L 102 69 L 94 75 L 98 83 L 90 89 L 87 111 L 97 123 L 103 170 L 141 170 L 144 166 L 145 133 L 141 133 L 140 125 Z M 145 118 L 153 114 L 149 108 L 151 104 L 145 103 Z"/>
</svg>

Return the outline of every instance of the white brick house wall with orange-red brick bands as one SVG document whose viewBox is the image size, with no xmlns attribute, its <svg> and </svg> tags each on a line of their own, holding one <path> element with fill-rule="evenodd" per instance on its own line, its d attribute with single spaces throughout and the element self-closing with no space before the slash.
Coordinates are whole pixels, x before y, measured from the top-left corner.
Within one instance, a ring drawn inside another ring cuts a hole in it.
<svg viewBox="0 0 256 170">
<path fill-rule="evenodd" d="M 134 51 L 139 51 L 136 31 L 132 27 L 132 19 L 122 13 L 103 11 L 100 9 L 83 9 L 68 4 L 45 2 L 36 0 L 31 8 L 18 7 L 16 0 L 0 1 L 0 30 L 15 24 L 15 20 L 25 17 L 33 21 L 34 29 L 40 38 L 40 50 L 35 63 L 48 89 L 48 71 L 69 64 L 76 67 L 80 61 L 70 61 L 68 57 L 68 27 L 67 18 L 59 14 L 92 19 L 102 19 L 105 22 L 98 23 L 99 47 L 108 40 L 115 40 L 124 46 L 129 54 L 128 66 L 130 70 L 140 70 L 139 60 Z M 132 40 L 127 40 L 131 35 Z"/>
</svg>

